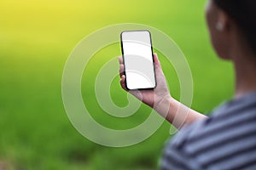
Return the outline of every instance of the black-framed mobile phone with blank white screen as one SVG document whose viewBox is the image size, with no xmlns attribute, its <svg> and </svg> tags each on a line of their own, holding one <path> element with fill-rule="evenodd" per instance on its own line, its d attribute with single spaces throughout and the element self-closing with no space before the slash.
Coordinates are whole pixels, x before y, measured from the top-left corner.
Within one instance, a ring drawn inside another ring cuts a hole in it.
<svg viewBox="0 0 256 170">
<path fill-rule="evenodd" d="M 156 87 L 154 58 L 149 31 L 123 31 L 121 48 L 125 65 L 125 84 L 129 90 Z"/>
</svg>

